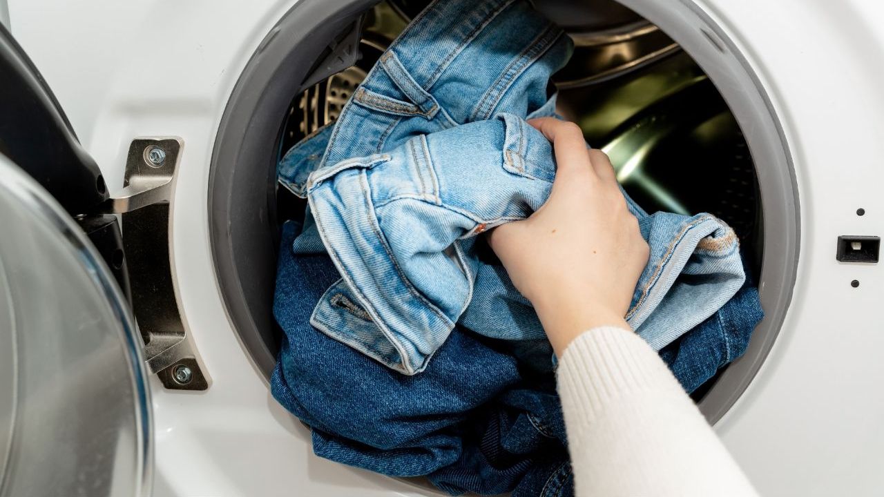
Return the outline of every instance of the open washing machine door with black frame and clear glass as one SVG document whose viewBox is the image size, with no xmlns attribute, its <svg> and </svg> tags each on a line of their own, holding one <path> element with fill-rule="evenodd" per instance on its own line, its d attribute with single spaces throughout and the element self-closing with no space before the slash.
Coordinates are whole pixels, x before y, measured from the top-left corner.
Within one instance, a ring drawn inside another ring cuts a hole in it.
<svg viewBox="0 0 884 497">
<path fill-rule="evenodd" d="M 0 27 L 0 496 L 146 495 L 141 338 L 72 218 L 106 199 L 95 163 Z"/>
</svg>

